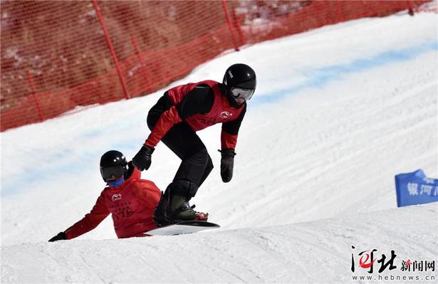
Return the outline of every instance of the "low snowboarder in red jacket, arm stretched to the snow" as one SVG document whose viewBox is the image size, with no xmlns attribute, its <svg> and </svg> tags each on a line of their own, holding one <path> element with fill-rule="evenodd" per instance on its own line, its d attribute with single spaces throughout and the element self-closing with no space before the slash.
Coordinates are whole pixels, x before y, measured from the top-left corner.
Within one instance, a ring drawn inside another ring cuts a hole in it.
<svg viewBox="0 0 438 284">
<path fill-rule="evenodd" d="M 49 241 L 76 238 L 93 230 L 109 214 L 118 238 L 145 236 L 145 232 L 157 228 L 152 216 L 161 191 L 153 182 L 140 179 L 141 172 L 115 150 L 100 158 L 100 174 L 108 185 L 90 213 Z"/>
</svg>

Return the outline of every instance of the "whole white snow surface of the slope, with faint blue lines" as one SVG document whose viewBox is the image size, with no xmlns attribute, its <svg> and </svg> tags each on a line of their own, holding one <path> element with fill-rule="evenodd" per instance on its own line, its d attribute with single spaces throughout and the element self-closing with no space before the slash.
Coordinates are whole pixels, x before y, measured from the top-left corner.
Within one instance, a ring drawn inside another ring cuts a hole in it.
<svg viewBox="0 0 438 284">
<path fill-rule="evenodd" d="M 438 176 L 437 23 L 425 13 L 325 26 L 229 53 L 172 83 L 220 81 L 233 63 L 257 73 L 229 184 L 219 175 L 221 126 L 198 132 L 215 168 L 192 203 L 217 230 L 118 240 L 107 218 L 77 239 L 47 242 L 92 208 L 104 187 L 100 156 L 118 149 L 131 158 L 140 149 L 147 111 L 165 89 L 2 132 L 1 282 L 364 283 L 414 275 L 433 283 L 438 263 L 421 273 L 400 266 L 438 260 L 438 205 L 397 209 L 394 176 Z M 142 177 L 164 190 L 178 166 L 160 143 Z M 395 251 L 397 269 L 360 268 L 359 253 L 372 249 L 376 258 Z"/>
</svg>

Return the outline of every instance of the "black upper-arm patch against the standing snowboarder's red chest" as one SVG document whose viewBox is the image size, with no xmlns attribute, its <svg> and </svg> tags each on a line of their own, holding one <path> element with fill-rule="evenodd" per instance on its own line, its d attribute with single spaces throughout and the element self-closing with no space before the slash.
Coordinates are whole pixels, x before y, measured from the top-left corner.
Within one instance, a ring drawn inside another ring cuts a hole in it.
<svg viewBox="0 0 438 284">
<path fill-rule="evenodd" d="M 187 96 L 177 105 L 179 117 L 185 120 L 187 117 L 206 114 L 212 110 L 214 93 L 208 85 L 198 85 L 191 90 Z"/>
</svg>

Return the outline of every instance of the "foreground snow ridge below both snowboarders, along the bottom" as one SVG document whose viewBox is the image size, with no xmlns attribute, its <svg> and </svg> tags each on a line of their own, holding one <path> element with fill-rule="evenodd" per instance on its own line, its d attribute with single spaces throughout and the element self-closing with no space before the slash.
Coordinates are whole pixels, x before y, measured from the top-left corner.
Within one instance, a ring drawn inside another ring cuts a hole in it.
<svg viewBox="0 0 438 284">
<path fill-rule="evenodd" d="M 419 219 L 437 220 L 438 204 L 172 237 L 24 243 L 2 248 L 6 261 L 1 281 L 345 283 L 353 275 L 364 275 L 358 268 L 351 272 L 351 253 L 374 248 L 387 256 L 395 250 L 397 255 L 399 269 L 382 275 L 417 275 L 400 270 L 402 259 L 438 255 L 436 224 L 416 226 Z"/>
</svg>

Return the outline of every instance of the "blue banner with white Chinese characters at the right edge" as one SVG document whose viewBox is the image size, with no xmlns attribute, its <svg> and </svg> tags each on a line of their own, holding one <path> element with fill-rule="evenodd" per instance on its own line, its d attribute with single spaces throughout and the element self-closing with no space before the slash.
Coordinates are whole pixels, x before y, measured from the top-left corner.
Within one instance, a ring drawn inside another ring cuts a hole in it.
<svg viewBox="0 0 438 284">
<path fill-rule="evenodd" d="M 438 201 L 438 179 L 430 179 L 422 169 L 395 176 L 397 206 Z"/>
</svg>

